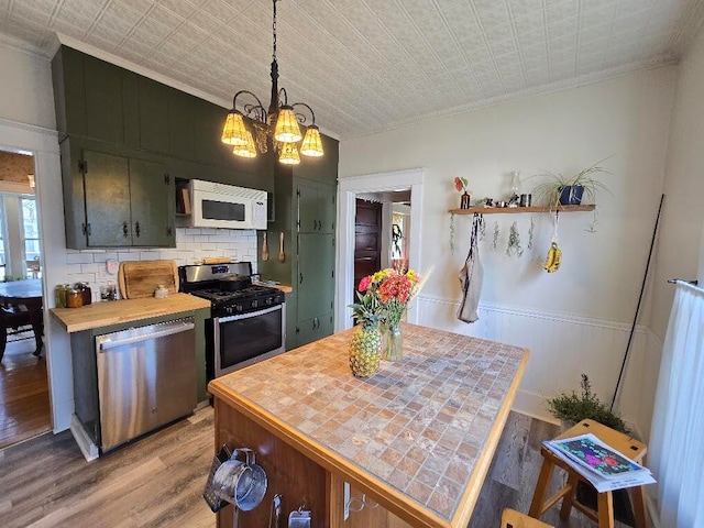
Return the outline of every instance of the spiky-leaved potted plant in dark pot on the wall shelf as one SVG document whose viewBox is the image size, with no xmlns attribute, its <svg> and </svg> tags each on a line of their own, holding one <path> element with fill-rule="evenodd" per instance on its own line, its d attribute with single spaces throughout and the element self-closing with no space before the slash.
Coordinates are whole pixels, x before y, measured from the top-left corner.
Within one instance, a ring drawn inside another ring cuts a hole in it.
<svg viewBox="0 0 704 528">
<path fill-rule="evenodd" d="M 610 193 L 606 185 L 598 179 L 602 174 L 612 174 L 600 165 L 602 162 L 604 160 L 571 176 L 548 172 L 531 176 L 531 178 L 541 176 L 548 178 L 534 189 L 532 194 L 536 196 L 536 200 L 550 207 L 579 206 L 583 199 L 592 204 L 595 202 L 597 189 Z"/>
</svg>

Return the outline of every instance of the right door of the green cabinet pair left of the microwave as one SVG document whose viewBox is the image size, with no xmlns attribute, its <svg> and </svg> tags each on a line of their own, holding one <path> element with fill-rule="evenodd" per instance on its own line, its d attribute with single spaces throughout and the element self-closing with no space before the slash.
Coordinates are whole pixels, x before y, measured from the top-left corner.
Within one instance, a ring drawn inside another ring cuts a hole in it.
<svg viewBox="0 0 704 528">
<path fill-rule="evenodd" d="M 130 160 L 132 245 L 174 248 L 174 184 L 161 163 Z"/>
</svg>

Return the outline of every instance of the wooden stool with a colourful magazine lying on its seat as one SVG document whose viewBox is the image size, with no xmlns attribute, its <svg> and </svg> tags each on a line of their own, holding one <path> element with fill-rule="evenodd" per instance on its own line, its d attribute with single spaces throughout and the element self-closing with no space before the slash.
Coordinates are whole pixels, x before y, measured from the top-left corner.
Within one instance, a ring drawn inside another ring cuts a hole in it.
<svg viewBox="0 0 704 528">
<path fill-rule="evenodd" d="M 586 435 L 587 432 L 591 432 L 604 443 L 607 443 L 616 451 L 622 452 L 638 463 L 640 463 L 646 454 L 647 448 L 644 443 L 594 420 L 582 420 L 573 428 L 557 437 L 557 439 L 578 437 L 580 435 Z M 552 454 L 552 452 L 550 452 L 550 450 L 544 446 L 540 449 L 540 454 L 542 454 L 543 458 L 542 468 L 540 469 L 540 476 L 538 477 L 538 484 L 536 484 L 536 492 L 532 496 L 532 503 L 530 504 L 530 512 L 528 515 L 538 519 L 554 503 L 564 497 L 562 501 L 562 507 L 560 508 L 560 518 L 568 519 L 570 517 L 572 506 L 574 506 L 592 520 L 598 522 L 598 528 L 614 528 L 614 497 L 612 492 L 597 493 L 596 512 L 576 503 L 574 501 L 574 492 L 576 490 L 578 482 L 582 481 L 592 488 L 594 488 L 594 486 L 592 486 L 588 481 L 583 479 L 570 465 L 563 462 L 562 459 Z M 544 497 L 548 493 L 548 487 L 550 486 L 552 470 L 556 465 L 568 472 L 568 482 L 562 490 L 546 501 Z M 634 517 L 636 520 L 635 528 L 646 528 L 645 487 L 636 486 L 629 490 L 632 495 Z"/>
</svg>

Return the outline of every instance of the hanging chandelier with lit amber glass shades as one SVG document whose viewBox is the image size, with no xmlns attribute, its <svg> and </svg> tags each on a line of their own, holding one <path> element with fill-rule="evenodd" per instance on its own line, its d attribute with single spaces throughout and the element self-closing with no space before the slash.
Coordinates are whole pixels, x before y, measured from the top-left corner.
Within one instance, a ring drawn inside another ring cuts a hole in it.
<svg viewBox="0 0 704 528">
<path fill-rule="evenodd" d="M 273 54 L 272 54 L 272 100 L 268 110 L 264 108 L 262 101 L 254 94 L 248 90 L 238 91 L 232 98 L 232 110 L 228 113 L 222 130 L 222 142 L 232 145 L 232 152 L 242 157 L 255 157 L 256 151 L 264 154 L 268 150 L 268 138 L 276 152 L 278 161 L 286 165 L 298 165 L 300 154 L 305 156 L 322 156 L 322 141 L 320 130 L 316 125 L 316 114 L 305 102 L 294 102 L 288 105 L 288 96 L 284 88 L 278 88 L 278 63 L 276 62 L 276 2 L 273 0 L 274 18 L 272 24 Z M 242 111 L 238 110 L 238 97 L 250 96 L 256 103 L 248 102 L 242 106 Z M 310 124 L 307 125 L 306 136 L 300 133 L 300 124 L 306 124 L 306 116 L 296 111 L 297 109 L 308 109 L 311 116 Z M 244 117 L 250 118 L 250 130 Z M 298 142 L 304 140 L 298 147 Z M 256 143 L 256 147 L 254 146 Z"/>
</svg>

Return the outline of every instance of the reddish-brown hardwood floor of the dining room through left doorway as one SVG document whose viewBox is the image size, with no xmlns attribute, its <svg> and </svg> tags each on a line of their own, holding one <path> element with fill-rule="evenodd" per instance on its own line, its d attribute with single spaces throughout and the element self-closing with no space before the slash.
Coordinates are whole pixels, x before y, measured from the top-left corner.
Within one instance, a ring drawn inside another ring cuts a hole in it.
<svg viewBox="0 0 704 528">
<path fill-rule="evenodd" d="M 34 339 L 8 342 L 0 362 L 0 449 L 52 428 L 46 360 Z"/>
</svg>

